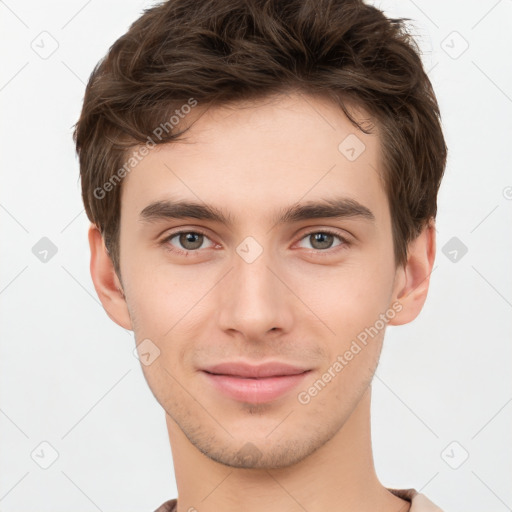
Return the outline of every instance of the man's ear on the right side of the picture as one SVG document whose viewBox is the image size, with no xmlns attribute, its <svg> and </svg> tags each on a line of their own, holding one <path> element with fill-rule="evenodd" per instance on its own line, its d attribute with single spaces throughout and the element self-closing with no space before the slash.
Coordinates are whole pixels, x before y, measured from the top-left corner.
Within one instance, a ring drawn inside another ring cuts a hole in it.
<svg viewBox="0 0 512 512">
<path fill-rule="evenodd" d="M 427 298 L 435 255 L 436 228 L 431 219 L 409 243 L 407 262 L 397 269 L 392 303 L 400 302 L 402 309 L 390 319 L 390 325 L 407 324 L 419 315 Z"/>
</svg>

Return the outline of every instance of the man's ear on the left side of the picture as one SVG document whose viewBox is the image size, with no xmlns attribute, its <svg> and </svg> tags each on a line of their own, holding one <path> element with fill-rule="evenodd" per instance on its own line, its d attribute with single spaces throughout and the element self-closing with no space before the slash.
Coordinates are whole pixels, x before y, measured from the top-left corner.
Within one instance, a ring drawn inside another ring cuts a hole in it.
<svg viewBox="0 0 512 512">
<path fill-rule="evenodd" d="M 121 327 L 133 330 L 121 282 L 114 270 L 114 264 L 100 230 L 94 224 L 89 227 L 89 247 L 91 248 L 92 281 L 107 315 Z"/>
</svg>

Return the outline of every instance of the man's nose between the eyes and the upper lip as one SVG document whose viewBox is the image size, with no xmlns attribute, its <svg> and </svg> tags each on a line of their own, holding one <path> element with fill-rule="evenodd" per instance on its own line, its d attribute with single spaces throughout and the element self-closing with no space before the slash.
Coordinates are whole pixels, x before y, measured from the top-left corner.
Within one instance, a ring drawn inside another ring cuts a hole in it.
<svg viewBox="0 0 512 512">
<path fill-rule="evenodd" d="M 248 341 L 262 340 L 276 331 L 289 332 L 294 297 L 286 280 L 270 251 L 263 250 L 254 261 L 236 254 L 218 290 L 219 327 L 237 331 Z"/>
</svg>

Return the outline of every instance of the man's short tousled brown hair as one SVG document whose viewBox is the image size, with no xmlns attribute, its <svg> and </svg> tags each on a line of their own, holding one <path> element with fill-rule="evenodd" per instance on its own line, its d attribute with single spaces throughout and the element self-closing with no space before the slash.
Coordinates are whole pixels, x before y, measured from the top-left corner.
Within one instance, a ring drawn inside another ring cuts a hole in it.
<svg viewBox="0 0 512 512">
<path fill-rule="evenodd" d="M 347 105 L 374 117 L 404 264 L 407 244 L 436 216 L 447 154 L 406 21 L 362 0 L 169 0 L 146 10 L 93 70 L 74 132 L 85 210 L 118 276 L 121 183 L 112 179 L 125 175 L 128 150 L 157 126 L 167 128 L 156 143 L 176 139 L 168 119 L 191 98 L 211 106 L 290 90 L 333 99 L 365 133 Z"/>
</svg>

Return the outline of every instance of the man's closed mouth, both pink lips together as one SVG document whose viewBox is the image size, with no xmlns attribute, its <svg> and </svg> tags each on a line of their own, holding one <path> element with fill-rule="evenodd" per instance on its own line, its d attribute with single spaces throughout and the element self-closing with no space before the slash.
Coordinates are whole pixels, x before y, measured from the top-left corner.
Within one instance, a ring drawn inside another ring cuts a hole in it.
<svg viewBox="0 0 512 512">
<path fill-rule="evenodd" d="M 210 385 L 225 396 L 240 402 L 265 403 L 291 391 L 311 369 L 283 363 L 258 366 L 222 363 L 202 370 Z"/>
</svg>

